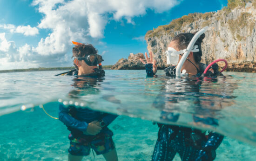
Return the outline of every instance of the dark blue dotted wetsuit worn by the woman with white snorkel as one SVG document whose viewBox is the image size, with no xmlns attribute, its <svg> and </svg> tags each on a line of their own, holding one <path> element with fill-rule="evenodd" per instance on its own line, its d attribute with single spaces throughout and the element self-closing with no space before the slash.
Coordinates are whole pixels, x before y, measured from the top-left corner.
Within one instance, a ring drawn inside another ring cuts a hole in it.
<svg viewBox="0 0 256 161">
<path fill-rule="evenodd" d="M 146 64 L 147 75 L 152 77 L 152 64 Z M 205 64 L 199 64 L 200 69 L 196 77 L 202 75 Z M 168 73 L 167 73 L 168 72 Z M 175 77 L 175 66 L 165 69 L 168 76 Z M 211 74 L 211 73 L 208 73 Z M 215 75 L 222 75 L 219 71 L 215 71 Z M 171 112 L 162 112 L 162 116 L 168 115 L 170 121 L 176 122 L 179 115 Z M 202 120 L 194 116 L 194 120 L 198 122 L 206 122 L 207 124 L 216 124 L 213 118 Z M 179 153 L 182 161 L 213 161 L 216 157 L 216 148 L 219 147 L 223 140 L 223 135 L 212 131 L 202 131 L 193 128 L 187 128 L 175 125 L 158 124 L 160 127 L 158 131 L 158 138 L 155 144 L 152 161 L 172 161 Z"/>
</svg>

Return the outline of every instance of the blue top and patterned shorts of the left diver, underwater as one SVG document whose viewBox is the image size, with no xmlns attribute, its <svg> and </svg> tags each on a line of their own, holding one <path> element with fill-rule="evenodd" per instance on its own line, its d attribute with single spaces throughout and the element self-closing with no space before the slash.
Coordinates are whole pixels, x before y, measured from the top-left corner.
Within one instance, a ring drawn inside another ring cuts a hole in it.
<svg viewBox="0 0 256 161">
<path fill-rule="evenodd" d="M 70 111 L 75 116 L 70 116 Z M 115 120 L 117 116 L 93 111 L 91 109 L 79 109 L 75 107 L 64 107 L 60 104 L 59 119 L 70 130 L 68 138 L 70 147 L 68 152 L 71 155 L 89 155 L 90 148 L 93 148 L 97 155 L 108 153 L 115 149 L 115 143 L 112 140 L 113 132 L 108 129 L 108 125 Z M 93 121 L 103 121 L 105 124 L 97 135 L 88 135 L 88 124 Z"/>
</svg>

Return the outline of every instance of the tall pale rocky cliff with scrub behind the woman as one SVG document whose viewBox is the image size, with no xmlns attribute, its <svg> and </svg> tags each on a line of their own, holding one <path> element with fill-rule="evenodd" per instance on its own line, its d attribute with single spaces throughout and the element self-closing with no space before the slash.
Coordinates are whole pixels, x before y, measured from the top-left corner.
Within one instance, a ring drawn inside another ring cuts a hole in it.
<svg viewBox="0 0 256 161">
<path fill-rule="evenodd" d="M 191 13 L 170 24 L 148 31 L 148 50 L 157 66 L 167 67 L 164 51 L 181 32 L 196 32 L 209 26 L 202 44 L 202 62 L 224 58 L 228 71 L 256 71 L 256 0 L 228 0 L 228 6 L 210 13 Z M 223 67 L 224 64 L 219 64 Z"/>
</svg>

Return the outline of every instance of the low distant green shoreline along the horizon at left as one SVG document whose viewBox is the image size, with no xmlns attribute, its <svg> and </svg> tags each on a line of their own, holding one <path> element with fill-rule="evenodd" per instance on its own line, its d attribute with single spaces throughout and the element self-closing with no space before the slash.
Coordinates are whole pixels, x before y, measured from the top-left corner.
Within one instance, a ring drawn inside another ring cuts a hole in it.
<svg viewBox="0 0 256 161">
<path fill-rule="evenodd" d="M 103 69 L 111 69 L 112 65 L 103 65 Z M 53 68 L 28 68 L 28 69 L 12 69 L 12 70 L 2 70 L 0 73 L 11 73 L 11 72 L 26 72 L 26 71 L 71 71 L 74 69 L 72 67 L 53 67 Z"/>
</svg>

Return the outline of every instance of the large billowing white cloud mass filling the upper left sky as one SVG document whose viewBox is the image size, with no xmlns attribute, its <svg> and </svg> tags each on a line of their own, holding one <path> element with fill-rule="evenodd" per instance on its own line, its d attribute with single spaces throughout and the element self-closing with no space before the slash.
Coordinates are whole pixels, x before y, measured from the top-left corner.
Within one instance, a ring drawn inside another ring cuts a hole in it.
<svg viewBox="0 0 256 161">
<path fill-rule="evenodd" d="M 146 14 L 148 9 L 162 13 L 177 5 L 178 0 L 34 0 L 37 12 L 42 13 L 38 26 L 0 25 L 0 28 L 25 36 L 39 34 L 38 29 L 51 31 L 41 38 L 37 46 L 16 47 L 13 41 L 7 41 L 0 35 L 0 54 L 12 54 L 5 60 L 38 63 L 40 66 L 54 63 L 61 66 L 70 61 L 71 41 L 100 44 L 104 37 L 105 26 L 115 20 L 135 25 L 133 18 Z M 142 38 L 134 38 L 141 40 Z M 102 52 L 104 54 L 105 52 Z"/>
</svg>

